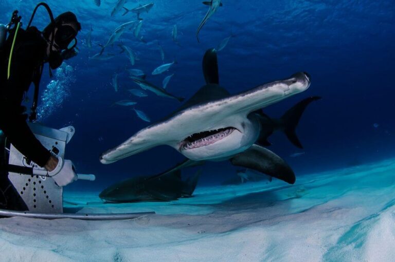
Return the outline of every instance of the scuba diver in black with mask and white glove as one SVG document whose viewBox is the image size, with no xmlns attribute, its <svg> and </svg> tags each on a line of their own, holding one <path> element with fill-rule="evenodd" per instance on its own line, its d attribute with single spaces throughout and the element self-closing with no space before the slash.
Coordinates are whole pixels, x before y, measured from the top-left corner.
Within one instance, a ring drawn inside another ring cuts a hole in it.
<svg viewBox="0 0 395 262">
<path fill-rule="evenodd" d="M 30 26 L 39 6 L 44 6 L 51 18 L 51 22 L 42 32 Z M 29 120 L 35 120 L 44 64 L 49 64 L 50 72 L 51 69 L 58 68 L 63 60 L 77 54 L 76 36 L 81 30 L 81 25 L 72 12 L 62 13 L 54 19 L 45 3 L 40 3 L 34 9 L 26 29 L 22 29 L 21 25 L 21 16 L 17 15 L 17 11 L 14 11 L 7 26 L 0 25 L 1 146 L 5 146 L 5 140 L 12 143 L 27 159 L 45 167 L 48 175 L 59 186 L 64 186 L 77 178 L 73 163 L 53 156 L 35 138 L 26 122 L 26 107 L 21 104 L 30 84 L 33 83 L 34 101 Z M 0 148 L 0 152 L 0 208 L 27 210 L 26 204 L 8 179 L 7 152 L 3 148 Z"/>
</svg>

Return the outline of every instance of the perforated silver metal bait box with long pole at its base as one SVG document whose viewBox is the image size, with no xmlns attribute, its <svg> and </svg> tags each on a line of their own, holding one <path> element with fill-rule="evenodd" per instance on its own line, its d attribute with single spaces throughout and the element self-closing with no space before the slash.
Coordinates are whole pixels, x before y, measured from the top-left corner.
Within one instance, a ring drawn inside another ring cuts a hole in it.
<svg viewBox="0 0 395 262">
<path fill-rule="evenodd" d="M 66 144 L 75 129 L 67 126 L 53 129 L 40 124 L 29 124 L 35 137 L 55 156 L 64 158 Z M 41 219 L 73 218 L 83 220 L 132 219 L 155 212 L 86 214 L 63 212 L 63 188 L 55 183 L 48 172 L 27 159 L 11 144 L 9 147 L 8 178 L 25 201 L 28 211 L 0 209 L 0 216 L 22 216 Z M 77 174 L 80 180 L 95 180 L 92 174 Z"/>
</svg>

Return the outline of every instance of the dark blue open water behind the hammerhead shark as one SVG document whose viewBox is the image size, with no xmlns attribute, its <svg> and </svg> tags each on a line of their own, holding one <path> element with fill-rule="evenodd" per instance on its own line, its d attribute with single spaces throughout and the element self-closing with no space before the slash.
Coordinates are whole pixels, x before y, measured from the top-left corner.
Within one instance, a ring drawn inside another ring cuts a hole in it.
<svg viewBox="0 0 395 262">
<path fill-rule="evenodd" d="M 14 3 L 15 2 L 15 3 Z M 312 95 L 324 99 L 313 103 L 304 113 L 297 134 L 303 151 L 294 147 L 283 134 L 270 138 L 270 149 L 284 157 L 297 176 L 305 173 L 362 164 L 394 156 L 395 121 L 394 60 L 395 5 L 388 1 L 236 1 L 223 0 L 200 34 L 195 31 L 208 7 L 200 0 L 156 1 L 144 18 L 141 34 L 148 43 L 139 42 L 133 31 L 122 36 L 123 44 L 138 53 L 140 61 L 133 68 L 144 70 L 148 80 L 157 85 L 175 73 L 168 90 L 189 98 L 204 84 L 201 60 L 204 51 L 216 47 L 231 33 L 229 44 L 219 53 L 221 85 L 236 93 L 258 84 L 289 77 L 297 71 L 312 76 L 311 87 L 295 97 L 265 108 L 272 117 L 281 116 L 297 101 Z M 12 3 L 12 4 L 11 4 Z M 136 99 L 127 89 L 138 88 L 124 68 L 132 68 L 124 54 L 108 61 L 88 60 L 100 51 L 110 33 L 120 24 L 136 20 L 135 14 L 111 17 L 116 1 L 48 1 L 56 15 L 76 13 L 83 30 L 79 33 L 80 53 L 67 63 L 75 69 L 76 82 L 63 107 L 47 117 L 45 124 L 63 127 L 73 124 L 77 133 L 66 149 L 66 158 L 74 161 L 81 173 L 94 173 L 97 181 L 79 181 L 70 189 L 101 189 L 137 175 L 155 174 L 181 161 L 183 157 L 170 147 L 157 147 L 114 164 L 102 165 L 99 155 L 118 145 L 147 123 L 136 117 L 131 108 L 111 106 L 131 99 L 138 102 L 152 121 L 176 109 L 172 99 L 150 93 Z M 140 1 L 148 4 L 150 1 Z M 0 22 L 7 23 L 12 10 L 19 9 L 25 26 L 37 2 L 0 0 Z M 135 7 L 135 1 L 125 6 Z M 40 10 L 34 24 L 42 29 L 48 22 Z M 85 36 L 93 27 L 94 47 L 88 49 Z M 180 46 L 172 41 L 173 25 L 178 27 Z M 162 62 L 156 47 L 158 40 L 165 50 L 165 62 L 176 58 L 178 64 L 169 73 L 151 76 Z M 118 53 L 115 45 L 106 52 Z M 120 90 L 110 85 L 111 76 L 120 70 Z M 42 90 L 49 82 L 44 70 Z M 373 124 L 379 124 L 374 127 Z M 292 158 L 295 152 L 306 154 Z M 227 162 L 204 167 L 201 184 L 219 183 L 235 175 Z"/>
</svg>

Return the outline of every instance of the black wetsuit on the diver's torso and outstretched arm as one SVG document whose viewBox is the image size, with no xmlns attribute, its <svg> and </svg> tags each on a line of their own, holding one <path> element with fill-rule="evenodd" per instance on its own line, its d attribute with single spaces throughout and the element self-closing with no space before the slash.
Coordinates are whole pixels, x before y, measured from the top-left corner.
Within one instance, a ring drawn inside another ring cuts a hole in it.
<svg viewBox="0 0 395 262">
<path fill-rule="evenodd" d="M 7 80 L 8 58 L 13 36 L 14 31 L 10 33 L 4 48 L 0 50 L 0 129 L 3 130 L 7 140 L 24 156 L 44 166 L 50 153 L 31 132 L 26 123 L 26 108 L 21 104 L 30 84 L 38 85 L 40 82 L 47 44 L 37 28 L 19 29 L 12 54 L 10 78 Z M 3 148 L 4 142 L 0 145 L 0 151 L 4 151 Z M 12 194 L 13 196 L 8 197 L 10 182 L 8 173 L 4 169 L 5 159 L 4 154 L 0 154 L 0 189 L 6 193 L 6 198 L 13 201 L 11 198 L 19 197 L 19 194 L 14 192 L 16 196 Z M 0 207 L 1 198 L 0 192 Z M 27 209 L 26 205 L 23 207 L 23 201 L 21 204 L 20 208 Z"/>
</svg>

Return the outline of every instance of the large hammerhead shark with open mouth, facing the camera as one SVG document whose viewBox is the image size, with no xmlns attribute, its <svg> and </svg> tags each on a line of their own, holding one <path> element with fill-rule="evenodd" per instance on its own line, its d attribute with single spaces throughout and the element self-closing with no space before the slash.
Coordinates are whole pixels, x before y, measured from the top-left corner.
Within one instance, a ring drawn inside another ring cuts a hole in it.
<svg viewBox="0 0 395 262">
<path fill-rule="evenodd" d="M 116 162 L 149 148 L 169 145 L 193 161 L 223 161 L 253 169 L 288 183 L 295 182 L 291 167 L 261 145 L 275 130 L 283 130 L 296 146 L 295 134 L 304 109 L 319 97 L 297 103 L 279 120 L 263 114 L 261 108 L 309 88 L 306 72 L 259 85 L 230 95 L 219 85 L 217 50 L 209 49 L 203 58 L 206 85 L 166 119 L 141 129 L 117 147 L 103 153 L 103 164 Z"/>
</svg>

